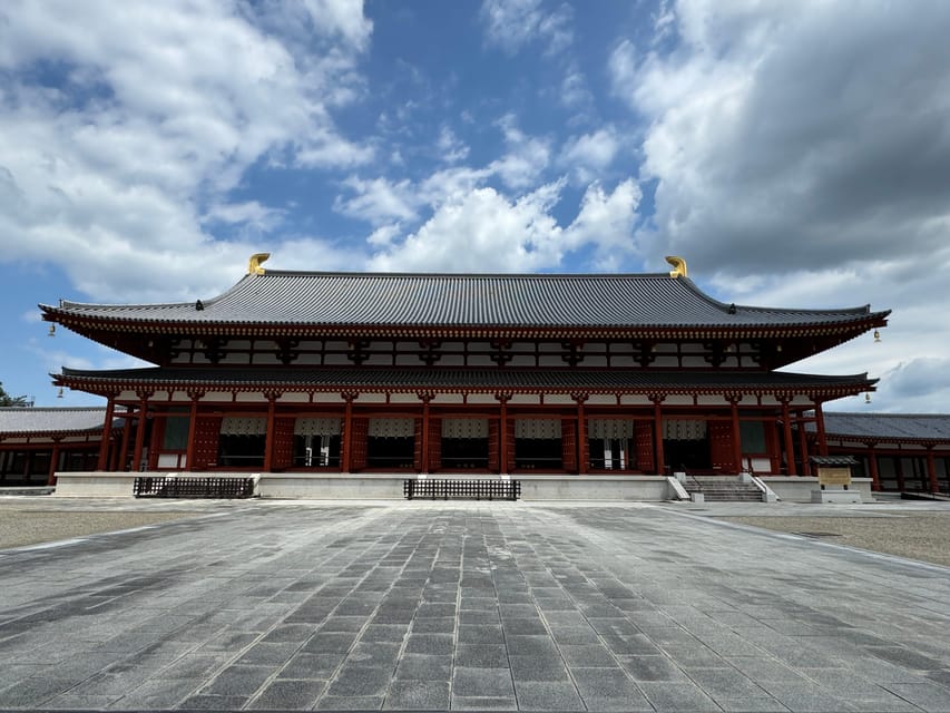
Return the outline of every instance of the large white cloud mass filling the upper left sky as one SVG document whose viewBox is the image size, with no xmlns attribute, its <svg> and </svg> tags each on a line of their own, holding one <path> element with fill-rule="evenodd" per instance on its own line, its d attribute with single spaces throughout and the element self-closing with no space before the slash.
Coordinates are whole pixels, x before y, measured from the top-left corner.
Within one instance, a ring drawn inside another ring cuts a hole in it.
<svg viewBox="0 0 950 713">
<path fill-rule="evenodd" d="M 301 8 L 296 32 L 319 51 L 292 52 L 276 33 L 281 10 Z M 354 66 L 370 31 L 361 6 L 336 0 L 4 3 L 3 258 L 59 263 L 96 299 L 232 282 L 253 246 L 206 226 L 264 229 L 280 215 L 228 205 L 251 166 L 372 156 L 332 118 L 361 90 Z"/>
</svg>

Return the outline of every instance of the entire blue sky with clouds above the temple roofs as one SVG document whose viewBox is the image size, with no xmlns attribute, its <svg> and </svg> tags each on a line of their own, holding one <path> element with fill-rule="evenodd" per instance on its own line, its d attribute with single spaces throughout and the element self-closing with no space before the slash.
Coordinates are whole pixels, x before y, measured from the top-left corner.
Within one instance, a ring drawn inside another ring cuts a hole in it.
<svg viewBox="0 0 950 713">
<path fill-rule="evenodd" d="M 267 267 L 658 272 L 892 309 L 792 367 L 950 411 L 950 3 L 8 0 L 0 380 L 136 362 L 38 303 Z M 846 399 L 834 409 L 868 409 Z"/>
</svg>

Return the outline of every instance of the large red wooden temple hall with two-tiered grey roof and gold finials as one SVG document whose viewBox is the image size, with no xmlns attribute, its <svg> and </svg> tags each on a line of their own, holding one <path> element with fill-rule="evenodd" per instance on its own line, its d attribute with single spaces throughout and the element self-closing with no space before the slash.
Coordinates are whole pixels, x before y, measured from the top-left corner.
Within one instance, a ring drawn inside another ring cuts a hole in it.
<svg viewBox="0 0 950 713">
<path fill-rule="evenodd" d="M 876 380 L 780 369 L 889 314 L 726 304 L 680 258 L 596 275 L 264 260 L 194 303 L 40 305 L 154 364 L 53 375 L 106 399 L 96 470 L 809 475 L 822 406 Z"/>
</svg>

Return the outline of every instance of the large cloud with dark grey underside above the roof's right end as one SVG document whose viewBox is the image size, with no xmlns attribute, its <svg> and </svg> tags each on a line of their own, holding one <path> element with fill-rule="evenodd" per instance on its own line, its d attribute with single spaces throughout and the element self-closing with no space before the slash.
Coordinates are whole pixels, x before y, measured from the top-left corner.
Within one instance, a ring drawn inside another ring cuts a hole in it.
<svg viewBox="0 0 950 713">
<path fill-rule="evenodd" d="M 950 6 L 684 1 L 675 14 L 670 51 L 624 41 L 609 64 L 650 125 L 658 242 L 740 274 L 768 270 L 775 245 L 783 268 L 806 268 L 893 255 L 897 235 L 946 240 Z"/>
</svg>

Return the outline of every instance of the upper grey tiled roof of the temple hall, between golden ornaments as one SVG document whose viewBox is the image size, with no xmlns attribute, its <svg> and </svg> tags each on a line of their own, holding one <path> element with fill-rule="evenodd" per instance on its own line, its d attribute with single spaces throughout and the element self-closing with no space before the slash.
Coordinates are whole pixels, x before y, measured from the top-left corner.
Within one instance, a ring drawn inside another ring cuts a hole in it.
<svg viewBox="0 0 950 713">
<path fill-rule="evenodd" d="M 200 309 L 198 309 L 200 306 Z M 883 319 L 869 306 L 729 305 L 667 274 L 451 275 L 267 271 L 224 294 L 175 304 L 41 305 L 51 315 L 207 324 L 753 328 Z"/>
</svg>

